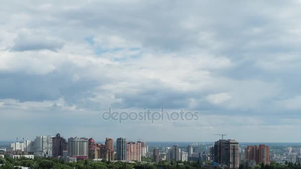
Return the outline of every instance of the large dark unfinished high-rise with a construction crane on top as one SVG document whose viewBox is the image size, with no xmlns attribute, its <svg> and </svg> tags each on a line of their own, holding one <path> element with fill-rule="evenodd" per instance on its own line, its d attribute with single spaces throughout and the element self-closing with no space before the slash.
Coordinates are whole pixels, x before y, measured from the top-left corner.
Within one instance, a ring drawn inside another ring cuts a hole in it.
<svg viewBox="0 0 301 169">
<path fill-rule="evenodd" d="M 239 144 L 235 140 L 218 140 L 214 143 L 214 161 L 229 169 L 239 168 Z"/>
</svg>

